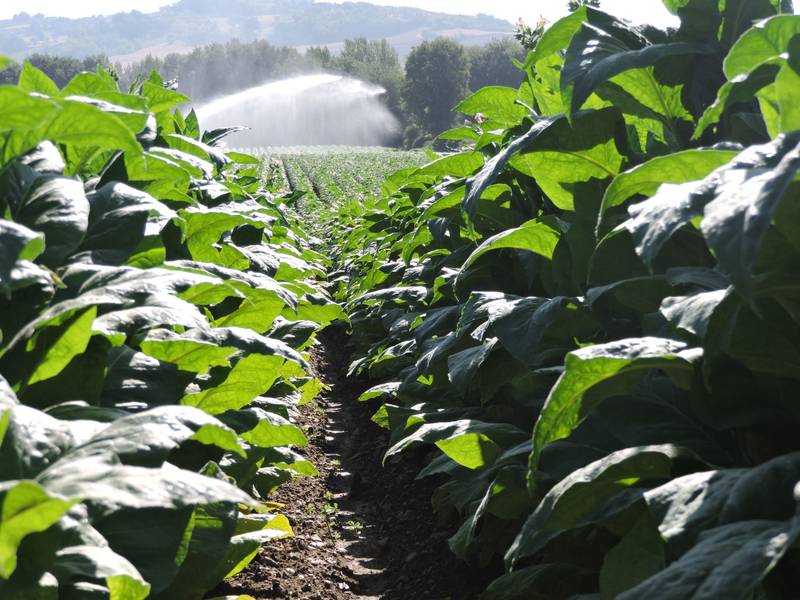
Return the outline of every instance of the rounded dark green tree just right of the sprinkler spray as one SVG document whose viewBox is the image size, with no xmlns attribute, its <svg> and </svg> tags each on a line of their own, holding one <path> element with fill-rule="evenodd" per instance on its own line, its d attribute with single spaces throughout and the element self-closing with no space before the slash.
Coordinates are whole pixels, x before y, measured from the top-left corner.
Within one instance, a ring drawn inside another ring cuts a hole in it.
<svg viewBox="0 0 800 600">
<path fill-rule="evenodd" d="M 469 76 L 469 57 L 461 44 L 439 38 L 416 46 L 406 60 L 403 87 L 414 130 L 438 135 L 449 129 L 455 120 L 453 107 L 469 92 Z M 416 137 L 413 142 L 418 144 L 421 136 Z"/>
</svg>

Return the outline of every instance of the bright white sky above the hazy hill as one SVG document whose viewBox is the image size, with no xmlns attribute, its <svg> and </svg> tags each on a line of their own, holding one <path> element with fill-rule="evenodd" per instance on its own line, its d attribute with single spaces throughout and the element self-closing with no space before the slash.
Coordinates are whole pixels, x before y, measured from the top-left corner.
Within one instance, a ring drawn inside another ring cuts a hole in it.
<svg viewBox="0 0 800 600">
<path fill-rule="evenodd" d="M 139 10 L 149 12 L 171 4 L 174 0 L 0 0 L 0 19 L 9 19 L 20 12 L 63 17 L 85 17 L 98 14 Z M 330 1 L 330 0 L 326 0 Z M 334 0 L 342 2 L 344 0 Z M 555 21 L 566 13 L 567 0 L 370 0 L 373 4 L 416 6 L 426 10 L 456 14 L 487 13 L 515 23 L 522 17 L 535 23 L 539 15 Z M 672 24 L 673 17 L 661 0 L 603 0 L 603 8 L 634 22 L 654 25 Z"/>
</svg>

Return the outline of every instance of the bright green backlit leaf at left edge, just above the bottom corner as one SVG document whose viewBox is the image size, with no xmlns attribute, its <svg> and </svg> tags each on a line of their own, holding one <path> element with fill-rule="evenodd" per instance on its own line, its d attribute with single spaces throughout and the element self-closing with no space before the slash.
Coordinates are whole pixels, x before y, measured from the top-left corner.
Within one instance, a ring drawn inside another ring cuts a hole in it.
<svg viewBox="0 0 800 600">
<path fill-rule="evenodd" d="M 22 540 L 48 529 L 76 501 L 51 495 L 33 481 L 0 484 L 0 499 L 0 578 L 8 579 L 17 567 Z"/>
</svg>

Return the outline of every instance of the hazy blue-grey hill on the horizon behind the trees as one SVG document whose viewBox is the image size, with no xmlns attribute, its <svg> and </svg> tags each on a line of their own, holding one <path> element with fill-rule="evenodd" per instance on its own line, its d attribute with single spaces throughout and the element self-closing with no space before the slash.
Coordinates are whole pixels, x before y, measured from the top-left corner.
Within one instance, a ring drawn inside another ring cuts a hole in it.
<svg viewBox="0 0 800 600">
<path fill-rule="evenodd" d="M 313 0 L 181 0 L 158 12 L 138 11 L 81 19 L 21 13 L 0 21 L 0 54 L 35 52 L 84 57 L 106 54 L 123 62 L 147 53 L 230 39 L 271 44 L 334 46 L 346 38 L 387 38 L 404 55 L 417 43 L 448 36 L 480 44 L 509 34 L 512 25 L 487 15 L 459 16 L 363 2 Z"/>
</svg>

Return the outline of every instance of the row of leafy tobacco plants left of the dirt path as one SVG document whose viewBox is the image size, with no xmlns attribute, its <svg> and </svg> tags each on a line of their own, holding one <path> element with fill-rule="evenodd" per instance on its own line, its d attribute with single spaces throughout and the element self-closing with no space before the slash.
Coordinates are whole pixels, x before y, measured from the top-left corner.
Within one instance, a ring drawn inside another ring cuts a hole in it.
<svg viewBox="0 0 800 600">
<path fill-rule="evenodd" d="M 157 75 L 0 87 L 0 597 L 199 599 L 291 535 L 324 257 Z"/>
</svg>

